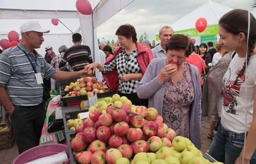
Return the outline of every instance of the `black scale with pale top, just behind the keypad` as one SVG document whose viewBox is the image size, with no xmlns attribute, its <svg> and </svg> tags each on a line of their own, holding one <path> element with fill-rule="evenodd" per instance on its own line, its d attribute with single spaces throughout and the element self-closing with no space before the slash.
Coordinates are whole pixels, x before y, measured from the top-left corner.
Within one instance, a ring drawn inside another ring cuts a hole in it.
<svg viewBox="0 0 256 164">
<path fill-rule="evenodd" d="M 63 116 L 61 113 L 61 107 L 57 107 L 53 113 L 49 116 L 48 119 L 48 128 L 49 133 L 60 131 L 64 128 Z"/>
</svg>

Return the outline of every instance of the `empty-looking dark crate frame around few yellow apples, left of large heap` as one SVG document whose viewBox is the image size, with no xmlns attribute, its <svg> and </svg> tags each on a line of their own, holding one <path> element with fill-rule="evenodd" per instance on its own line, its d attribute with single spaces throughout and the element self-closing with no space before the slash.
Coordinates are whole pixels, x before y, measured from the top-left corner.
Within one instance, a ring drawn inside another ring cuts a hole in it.
<svg viewBox="0 0 256 164">
<path fill-rule="evenodd" d="M 86 112 L 89 111 L 88 109 L 85 110 L 80 110 L 79 107 L 77 107 L 78 110 L 73 110 L 70 107 L 66 107 L 65 110 L 62 110 L 62 116 L 63 116 L 63 122 L 64 122 L 64 130 L 65 133 L 75 133 L 75 131 L 70 130 L 67 126 L 67 120 L 69 119 L 75 119 L 77 118 L 77 114 L 82 113 L 82 112 Z"/>
</svg>

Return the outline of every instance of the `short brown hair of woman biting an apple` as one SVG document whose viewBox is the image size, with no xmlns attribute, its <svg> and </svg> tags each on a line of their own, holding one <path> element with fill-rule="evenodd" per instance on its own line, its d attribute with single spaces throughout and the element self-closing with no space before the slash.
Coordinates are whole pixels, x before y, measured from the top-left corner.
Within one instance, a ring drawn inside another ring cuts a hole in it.
<svg viewBox="0 0 256 164">
<path fill-rule="evenodd" d="M 185 55 L 189 56 L 192 53 L 192 45 L 187 36 L 174 34 L 166 43 L 166 52 L 168 50 L 185 50 Z"/>
</svg>

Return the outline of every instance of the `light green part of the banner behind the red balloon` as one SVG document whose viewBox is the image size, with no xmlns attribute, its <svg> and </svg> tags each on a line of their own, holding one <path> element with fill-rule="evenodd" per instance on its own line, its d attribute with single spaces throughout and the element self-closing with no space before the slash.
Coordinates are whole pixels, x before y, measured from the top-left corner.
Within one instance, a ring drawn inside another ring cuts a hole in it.
<svg viewBox="0 0 256 164">
<path fill-rule="evenodd" d="M 203 32 L 198 32 L 195 28 L 193 29 L 186 29 L 180 31 L 174 31 L 174 34 L 185 34 L 188 37 L 198 37 L 198 36 L 209 36 L 215 35 L 219 33 L 219 25 L 208 25 L 207 28 Z M 156 40 L 159 40 L 158 34 L 156 34 Z M 202 41 L 201 41 L 202 42 Z"/>
</svg>

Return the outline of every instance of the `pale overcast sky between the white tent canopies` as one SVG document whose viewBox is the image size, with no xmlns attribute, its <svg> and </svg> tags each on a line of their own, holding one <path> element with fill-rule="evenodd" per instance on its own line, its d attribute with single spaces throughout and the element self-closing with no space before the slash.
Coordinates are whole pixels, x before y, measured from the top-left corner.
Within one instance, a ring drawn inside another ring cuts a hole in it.
<svg viewBox="0 0 256 164">
<path fill-rule="evenodd" d="M 248 10 L 248 4 L 250 3 L 248 0 L 212 1 L 231 8 L 243 8 L 245 10 Z M 135 0 L 97 28 L 98 38 L 100 41 L 102 37 L 106 41 L 108 39 L 116 41 L 115 31 L 119 25 L 130 23 L 137 31 L 138 39 L 143 32 L 146 32 L 149 35 L 150 42 L 152 42 L 155 40 L 155 33 L 161 27 L 171 25 L 205 2 L 207 0 Z"/>
</svg>

